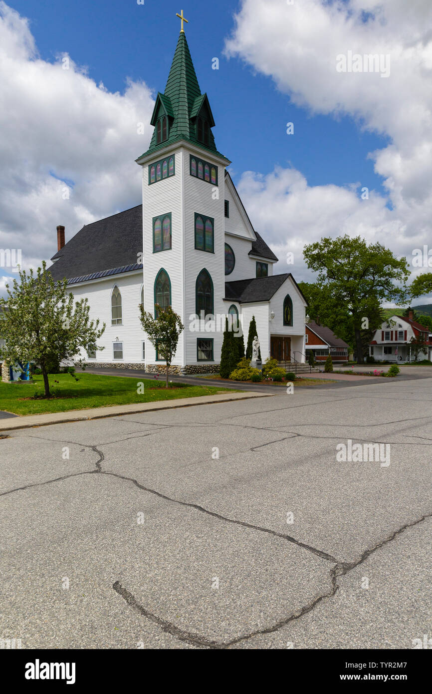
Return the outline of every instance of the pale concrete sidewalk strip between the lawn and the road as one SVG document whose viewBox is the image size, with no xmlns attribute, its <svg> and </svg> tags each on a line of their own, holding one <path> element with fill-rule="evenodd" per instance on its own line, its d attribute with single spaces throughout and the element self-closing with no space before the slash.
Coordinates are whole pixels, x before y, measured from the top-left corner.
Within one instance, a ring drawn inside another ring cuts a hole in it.
<svg viewBox="0 0 432 694">
<path fill-rule="evenodd" d="M 228 403 L 232 400 L 247 400 L 248 398 L 268 398 L 273 393 L 218 393 L 216 395 L 199 396 L 198 398 L 178 398 L 178 400 L 159 400 L 157 403 L 130 403 L 130 405 L 114 405 L 112 407 L 93 407 L 92 409 L 71 409 L 69 412 L 48 412 L 46 414 L 30 414 L 15 416 L 0 423 L 0 434 L 15 429 L 44 427 L 49 424 L 78 422 L 87 419 L 116 417 L 124 414 L 153 412 L 156 409 L 175 409 L 193 405 L 211 405 L 211 403 Z"/>
</svg>

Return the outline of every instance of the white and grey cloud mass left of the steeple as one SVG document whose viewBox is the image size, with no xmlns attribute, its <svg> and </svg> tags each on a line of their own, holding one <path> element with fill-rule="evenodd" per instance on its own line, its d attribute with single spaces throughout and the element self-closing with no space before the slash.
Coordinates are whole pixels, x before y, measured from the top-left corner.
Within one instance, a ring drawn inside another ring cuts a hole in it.
<svg viewBox="0 0 432 694">
<path fill-rule="evenodd" d="M 28 21 L 0 2 L 0 248 L 21 248 L 24 267 L 57 251 L 58 224 L 68 239 L 141 202 L 150 89 L 128 81 L 113 94 L 63 58 L 42 60 Z"/>
</svg>

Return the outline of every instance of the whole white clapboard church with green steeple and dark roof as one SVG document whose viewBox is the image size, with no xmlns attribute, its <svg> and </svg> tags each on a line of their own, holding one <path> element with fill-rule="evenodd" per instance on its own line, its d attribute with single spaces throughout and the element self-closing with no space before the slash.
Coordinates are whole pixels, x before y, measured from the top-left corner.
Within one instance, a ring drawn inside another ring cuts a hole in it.
<svg viewBox="0 0 432 694">
<path fill-rule="evenodd" d="M 162 371 L 139 321 L 139 304 L 171 305 L 184 324 L 173 373 L 218 371 L 225 314 L 239 316 L 245 346 L 254 316 L 263 361 L 304 362 L 306 300 L 254 230 L 218 152 L 207 94 L 201 94 L 184 31 L 163 94 L 157 94 L 149 149 L 137 159 L 142 205 L 84 226 L 49 268 L 87 297 L 106 323 L 90 366 Z M 203 313 L 202 313 L 203 312 Z M 197 329 L 196 316 L 204 316 Z"/>
</svg>

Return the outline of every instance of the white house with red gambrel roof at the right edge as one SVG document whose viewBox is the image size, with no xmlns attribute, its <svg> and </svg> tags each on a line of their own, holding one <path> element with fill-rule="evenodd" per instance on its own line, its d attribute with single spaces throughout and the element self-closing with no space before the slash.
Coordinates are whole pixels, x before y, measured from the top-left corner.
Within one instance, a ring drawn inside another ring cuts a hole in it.
<svg viewBox="0 0 432 694">
<path fill-rule="evenodd" d="M 424 347 L 415 358 L 415 341 L 424 341 Z M 432 339 L 429 328 L 414 320 L 413 311 L 405 316 L 392 316 L 375 331 L 369 344 L 369 353 L 377 362 L 421 362 L 432 357 Z"/>
</svg>

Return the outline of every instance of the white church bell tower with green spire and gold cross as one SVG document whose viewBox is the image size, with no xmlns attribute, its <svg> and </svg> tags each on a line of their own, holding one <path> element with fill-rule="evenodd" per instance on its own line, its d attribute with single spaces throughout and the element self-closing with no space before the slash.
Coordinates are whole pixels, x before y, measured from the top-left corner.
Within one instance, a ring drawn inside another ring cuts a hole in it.
<svg viewBox="0 0 432 694">
<path fill-rule="evenodd" d="M 231 162 L 216 149 L 209 99 L 201 93 L 184 33 L 188 20 L 183 10 L 177 16 L 182 28 L 150 120 L 153 137 L 137 159 L 143 174 L 144 307 L 173 307 L 184 323 L 173 366 L 205 371 L 220 361 L 223 335 L 216 329 L 197 333 L 193 319 L 225 312 L 225 167 Z M 158 363 L 150 344 L 146 355 L 148 364 Z"/>
</svg>

